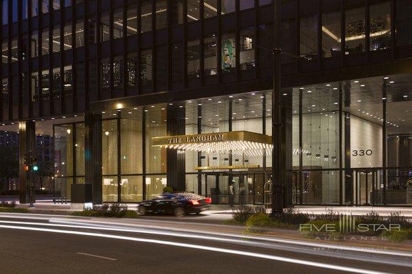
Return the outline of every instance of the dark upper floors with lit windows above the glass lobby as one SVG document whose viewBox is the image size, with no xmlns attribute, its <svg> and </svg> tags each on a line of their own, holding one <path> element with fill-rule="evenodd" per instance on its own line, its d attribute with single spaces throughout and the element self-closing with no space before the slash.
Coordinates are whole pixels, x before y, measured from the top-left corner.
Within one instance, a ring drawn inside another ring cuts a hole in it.
<svg viewBox="0 0 412 274">
<path fill-rule="evenodd" d="M 205 97 L 212 86 L 236 93 L 271 85 L 272 0 L 0 3 L 1 121 L 154 92 Z M 282 86 L 406 72 L 409 0 L 281 4 L 280 44 L 296 55 L 282 56 Z"/>
</svg>

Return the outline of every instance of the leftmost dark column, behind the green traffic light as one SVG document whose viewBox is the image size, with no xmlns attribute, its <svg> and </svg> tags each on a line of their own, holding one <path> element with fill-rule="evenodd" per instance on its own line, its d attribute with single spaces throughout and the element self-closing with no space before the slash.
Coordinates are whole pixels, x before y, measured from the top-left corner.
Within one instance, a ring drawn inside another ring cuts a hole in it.
<svg viewBox="0 0 412 274">
<path fill-rule="evenodd" d="M 30 173 L 24 170 L 24 158 L 36 157 L 36 123 L 33 121 L 19 122 L 19 201 L 30 203 L 30 191 L 32 191 L 32 202 L 36 201 L 34 186 L 30 187 Z M 30 158 L 28 159 L 30 162 Z"/>
</svg>

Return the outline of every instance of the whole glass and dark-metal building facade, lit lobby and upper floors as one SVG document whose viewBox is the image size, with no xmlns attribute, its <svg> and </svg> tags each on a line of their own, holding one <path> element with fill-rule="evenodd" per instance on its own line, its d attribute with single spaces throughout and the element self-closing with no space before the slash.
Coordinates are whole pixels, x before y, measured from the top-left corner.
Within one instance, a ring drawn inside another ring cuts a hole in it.
<svg viewBox="0 0 412 274">
<path fill-rule="evenodd" d="M 287 203 L 411 206 L 409 1 L 281 2 L 281 47 L 299 56 L 281 66 Z M 269 202 L 270 151 L 152 138 L 271 136 L 273 1 L 0 5 L 1 124 L 51 132 L 56 195 L 93 184 L 102 202 L 137 202 L 170 185 Z"/>
</svg>

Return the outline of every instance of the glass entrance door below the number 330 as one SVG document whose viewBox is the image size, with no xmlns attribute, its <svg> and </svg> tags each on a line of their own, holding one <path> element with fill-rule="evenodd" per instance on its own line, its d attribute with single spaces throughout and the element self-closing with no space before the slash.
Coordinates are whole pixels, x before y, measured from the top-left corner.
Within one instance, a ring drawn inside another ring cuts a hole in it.
<svg viewBox="0 0 412 274">
<path fill-rule="evenodd" d="M 354 205 L 382 203 L 382 171 L 375 169 L 354 171 Z"/>
</svg>

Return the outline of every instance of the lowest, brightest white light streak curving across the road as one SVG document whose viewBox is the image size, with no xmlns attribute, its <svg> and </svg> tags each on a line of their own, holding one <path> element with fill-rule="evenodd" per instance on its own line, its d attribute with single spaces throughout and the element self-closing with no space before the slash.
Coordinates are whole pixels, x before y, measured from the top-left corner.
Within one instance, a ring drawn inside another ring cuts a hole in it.
<svg viewBox="0 0 412 274">
<path fill-rule="evenodd" d="M 322 269 L 332 269 L 332 270 L 343 271 L 343 272 L 352 272 L 352 273 L 360 273 L 360 274 L 388 274 L 387 272 L 372 271 L 368 269 L 358 269 L 358 268 L 351 267 L 351 266 L 326 264 L 322 262 L 312 262 L 309 260 L 286 258 L 282 256 L 273 256 L 273 255 L 255 253 L 255 252 L 250 252 L 250 251 L 240 251 L 240 250 L 225 249 L 225 248 L 220 248 L 220 247 L 209 247 L 205 245 L 186 244 L 183 242 L 171 242 L 168 240 L 135 238 L 135 237 L 130 237 L 130 236 L 100 234 L 100 233 L 93 233 L 93 232 L 76 232 L 76 231 L 69 231 L 69 230 L 58 230 L 58 229 L 48 229 L 48 228 L 39 228 L 39 227 L 18 227 L 18 226 L 12 226 L 12 225 L 0 225 L 0 227 L 6 228 L 6 229 L 21 229 L 21 230 L 32 230 L 32 231 L 38 231 L 38 232 L 53 232 L 53 233 L 59 233 L 59 234 L 72 234 L 72 235 L 92 236 L 92 237 L 100 237 L 100 238 L 112 238 L 112 239 L 117 239 L 117 240 L 129 240 L 133 242 L 148 242 L 148 243 L 153 243 L 157 245 L 170 245 L 174 247 L 186 247 L 190 249 L 215 251 L 215 252 L 220 252 L 220 253 L 229 253 L 229 254 L 240 255 L 240 256 L 248 256 L 248 257 L 260 258 L 260 259 L 266 259 L 266 260 L 274 260 L 278 262 L 301 264 L 304 266 L 312 266 L 312 267 L 317 267 L 317 268 L 322 268 Z"/>
</svg>

